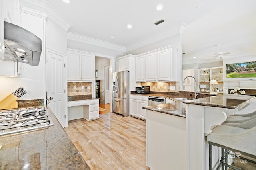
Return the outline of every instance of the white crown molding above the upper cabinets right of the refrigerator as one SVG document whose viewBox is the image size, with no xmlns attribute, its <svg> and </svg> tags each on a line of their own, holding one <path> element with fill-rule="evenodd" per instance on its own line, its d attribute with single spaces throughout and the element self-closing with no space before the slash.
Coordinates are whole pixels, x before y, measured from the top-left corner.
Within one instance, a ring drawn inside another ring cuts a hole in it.
<svg viewBox="0 0 256 170">
<path fill-rule="evenodd" d="M 185 23 L 180 23 L 178 25 L 175 25 L 171 29 L 167 29 L 165 31 L 162 31 L 160 33 L 157 33 L 155 35 L 152 35 L 146 39 L 143 39 L 141 41 L 137 41 L 131 45 L 126 46 L 127 51 L 132 51 L 134 49 L 144 47 L 148 44 L 154 43 L 156 41 L 160 41 L 162 39 L 165 39 L 167 37 L 171 37 L 173 35 L 176 35 L 178 33 L 181 33 L 186 29 L 187 25 Z"/>
</svg>

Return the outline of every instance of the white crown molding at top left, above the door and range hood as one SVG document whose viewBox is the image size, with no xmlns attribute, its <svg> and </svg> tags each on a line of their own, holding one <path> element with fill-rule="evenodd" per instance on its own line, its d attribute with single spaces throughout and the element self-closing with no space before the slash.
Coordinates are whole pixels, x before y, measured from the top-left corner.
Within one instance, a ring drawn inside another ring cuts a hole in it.
<svg viewBox="0 0 256 170">
<path fill-rule="evenodd" d="M 72 26 L 68 20 L 66 20 L 57 10 L 51 6 L 46 0 L 20 0 L 20 6 L 22 10 L 25 11 L 33 11 L 33 14 L 43 14 L 41 11 L 43 10 L 46 15 L 48 14 L 48 18 L 53 20 L 55 23 L 60 25 L 64 30 L 68 31 L 68 28 Z M 34 10 L 28 10 L 34 9 Z M 37 11 L 37 12 L 36 12 Z"/>
</svg>

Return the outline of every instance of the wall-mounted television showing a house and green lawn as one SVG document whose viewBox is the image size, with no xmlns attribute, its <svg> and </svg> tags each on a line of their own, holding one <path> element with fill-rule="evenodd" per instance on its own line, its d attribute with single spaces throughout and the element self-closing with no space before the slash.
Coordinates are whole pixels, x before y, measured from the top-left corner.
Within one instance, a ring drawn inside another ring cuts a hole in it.
<svg viewBox="0 0 256 170">
<path fill-rule="evenodd" d="M 226 78 L 256 78 L 256 61 L 226 64 Z"/>
</svg>

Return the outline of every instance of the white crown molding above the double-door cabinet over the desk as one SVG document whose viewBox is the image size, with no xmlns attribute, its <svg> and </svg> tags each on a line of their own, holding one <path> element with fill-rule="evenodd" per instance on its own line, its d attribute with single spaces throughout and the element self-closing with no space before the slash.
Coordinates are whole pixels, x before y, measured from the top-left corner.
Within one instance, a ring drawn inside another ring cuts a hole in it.
<svg viewBox="0 0 256 170">
<path fill-rule="evenodd" d="M 126 52 L 126 47 L 124 47 L 122 45 L 109 43 L 107 41 L 102 41 L 102 40 L 95 39 L 92 37 L 86 37 L 84 35 L 79 35 L 79 34 L 72 33 L 72 32 L 69 32 L 67 35 L 68 35 L 69 40 L 78 41 L 81 43 L 86 43 L 86 44 L 96 45 L 96 46 L 100 46 L 100 47 L 104 47 L 104 48 L 108 48 L 108 49 Z"/>
</svg>

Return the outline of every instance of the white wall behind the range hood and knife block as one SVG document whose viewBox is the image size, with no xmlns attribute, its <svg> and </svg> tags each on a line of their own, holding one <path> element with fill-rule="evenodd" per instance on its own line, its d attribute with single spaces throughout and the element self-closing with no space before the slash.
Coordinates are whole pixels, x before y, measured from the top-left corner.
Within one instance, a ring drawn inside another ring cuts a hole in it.
<svg viewBox="0 0 256 170">
<path fill-rule="evenodd" d="M 28 91 L 20 100 L 44 98 L 44 19 L 21 12 L 20 26 L 34 33 L 42 40 L 39 66 L 30 66 L 18 62 L 19 77 L 0 77 L 0 100 L 19 87 L 24 87 Z"/>
</svg>

